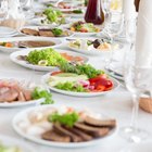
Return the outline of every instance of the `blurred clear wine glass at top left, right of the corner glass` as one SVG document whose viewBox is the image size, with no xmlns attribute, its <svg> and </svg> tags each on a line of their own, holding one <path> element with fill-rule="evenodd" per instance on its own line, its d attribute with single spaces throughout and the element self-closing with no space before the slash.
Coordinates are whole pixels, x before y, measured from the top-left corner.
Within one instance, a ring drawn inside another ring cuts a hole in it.
<svg viewBox="0 0 152 152">
<path fill-rule="evenodd" d="M 27 20 L 35 16 L 35 13 L 33 11 L 33 0 L 20 0 L 20 5 Z"/>
</svg>

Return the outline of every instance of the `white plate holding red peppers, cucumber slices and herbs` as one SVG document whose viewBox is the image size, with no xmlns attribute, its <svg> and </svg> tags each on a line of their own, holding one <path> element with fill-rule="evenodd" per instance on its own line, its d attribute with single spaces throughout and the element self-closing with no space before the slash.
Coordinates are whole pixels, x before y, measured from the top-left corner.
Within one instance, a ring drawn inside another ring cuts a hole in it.
<svg viewBox="0 0 152 152">
<path fill-rule="evenodd" d="M 49 79 L 50 75 L 51 75 L 51 73 L 48 73 L 48 74 L 43 75 L 42 78 L 41 78 L 42 83 L 50 90 L 55 91 L 58 93 L 62 93 L 62 94 L 73 96 L 73 97 L 97 97 L 97 96 L 103 96 L 103 94 L 106 94 L 109 92 L 114 91 L 119 86 L 119 83 L 116 79 L 111 78 L 113 80 L 114 86 L 113 86 L 113 89 L 109 90 L 109 91 L 102 91 L 102 92 L 74 92 L 74 91 L 66 91 L 66 90 L 56 89 L 56 88 L 51 87 L 50 85 L 48 85 L 48 79 Z"/>
</svg>

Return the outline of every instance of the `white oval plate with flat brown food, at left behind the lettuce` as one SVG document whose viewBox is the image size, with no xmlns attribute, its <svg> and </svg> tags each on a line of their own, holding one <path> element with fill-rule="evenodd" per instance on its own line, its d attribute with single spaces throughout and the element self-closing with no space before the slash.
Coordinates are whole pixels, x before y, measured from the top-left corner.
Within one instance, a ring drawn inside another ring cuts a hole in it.
<svg viewBox="0 0 152 152">
<path fill-rule="evenodd" d="M 53 38 L 47 38 L 47 37 L 33 37 L 33 36 L 29 36 L 29 37 L 14 37 L 14 38 L 2 38 L 0 40 L 0 42 L 14 42 L 14 41 L 41 41 L 41 42 L 46 42 L 46 41 L 50 41 L 50 42 L 53 42 L 54 46 L 49 46 L 49 47 L 35 47 L 33 49 L 37 49 L 37 48 L 55 48 L 55 47 L 59 47 L 60 45 L 62 45 L 62 41 L 61 40 L 58 40 L 58 39 L 53 39 Z M 28 48 L 28 47 L 27 47 Z M 2 52 L 5 52 L 5 53 L 12 53 L 12 52 L 15 52 L 15 51 L 20 51 L 20 50 L 23 50 L 23 49 L 26 49 L 26 48 L 18 48 L 18 47 L 12 47 L 12 48 L 8 48 L 8 47 L 3 47 L 3 46 L 0 46 L 0 51 Z"/>
</svg>

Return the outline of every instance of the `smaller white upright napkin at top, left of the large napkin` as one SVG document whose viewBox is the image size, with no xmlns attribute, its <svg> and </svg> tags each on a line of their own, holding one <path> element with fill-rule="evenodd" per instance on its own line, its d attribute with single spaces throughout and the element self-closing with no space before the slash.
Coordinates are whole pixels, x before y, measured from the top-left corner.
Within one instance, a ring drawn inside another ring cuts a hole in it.
<svg viewBox="0 0 152 152">
<path fill-rule="evenodd" d="M 123 13 L 125 21 L 136 17 L 134 0 L 123 0 Z"/>
</svg>

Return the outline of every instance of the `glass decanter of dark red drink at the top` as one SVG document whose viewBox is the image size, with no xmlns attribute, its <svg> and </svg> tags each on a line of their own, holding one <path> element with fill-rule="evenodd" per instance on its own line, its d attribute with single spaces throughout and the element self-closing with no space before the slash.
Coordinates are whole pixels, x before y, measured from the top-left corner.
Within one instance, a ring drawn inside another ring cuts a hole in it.
<svg viewBox="0 0 152 152">
<path fill-rule="evenodd" d="M 87 23 L 93 23 L 98 25 L 104 22 L 104 13 L 102 10 L 101 0 L 89 0 L 85 14 L 85 21 Z"/>
</svg>

